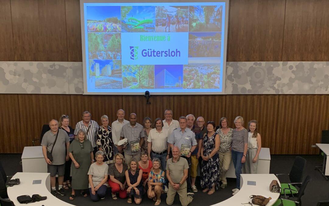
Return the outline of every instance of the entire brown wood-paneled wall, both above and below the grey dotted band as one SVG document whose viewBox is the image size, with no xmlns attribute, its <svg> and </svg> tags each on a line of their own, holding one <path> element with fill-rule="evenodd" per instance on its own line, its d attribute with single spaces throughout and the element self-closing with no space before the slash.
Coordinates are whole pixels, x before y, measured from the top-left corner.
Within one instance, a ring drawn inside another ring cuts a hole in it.
<svg viewBox="0 0 329 206">
<path fill-rule="evenodd" d="M 329 1 L 231 0 L 228 61 L 329 61 Z M 0 1 L 0 61 L 82 61 L 79 0 Z M 174 118 L 194 114 L 206 121 L 236 116 L 259 121 L 263 146 L 272 154 L 316 154 L 311 145 L 328 130 L 328 95 L 142 96 L 0 94 L 0 153 L 20 153 L 38 138 L 41 126 L 62 114 L 71 125 L 89 110 L 100 121 L 116 110 L 127 116 Z M 128 117 L 127 117 L 128 118 Z"/>
</svg>

